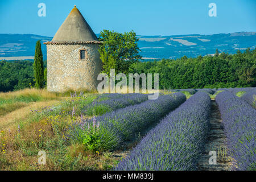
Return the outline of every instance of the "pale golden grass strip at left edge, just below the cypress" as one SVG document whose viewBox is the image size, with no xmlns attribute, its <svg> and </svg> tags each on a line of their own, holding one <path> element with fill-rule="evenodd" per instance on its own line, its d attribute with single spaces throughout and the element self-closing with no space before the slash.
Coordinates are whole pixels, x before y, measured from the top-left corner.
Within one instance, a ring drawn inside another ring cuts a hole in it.
<svg viewBox="0 0 256 182">
<path fill-rule="evenodd" d="M 22 121 L 30 110 L 55 104 L 67 97 L 48 92 L 46 89 L 24 89 L 15 92 L 0 93 L 0 129 L 15 121 Z"/>
</svg>

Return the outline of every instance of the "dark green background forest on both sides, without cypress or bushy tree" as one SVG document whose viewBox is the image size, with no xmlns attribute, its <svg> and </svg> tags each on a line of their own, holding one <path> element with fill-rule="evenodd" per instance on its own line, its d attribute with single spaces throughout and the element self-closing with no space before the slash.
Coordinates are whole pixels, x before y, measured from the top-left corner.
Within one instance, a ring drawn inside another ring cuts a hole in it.
<svg viewBox="0 0 256 182">
<path fill-rule="evenodd" d="M 46 61 L 44 61 L 46 67 Z M 214 56 L 198 56 L 160 61 L 138 61 L 129 73 L 159 73 L 159 89 L 234 88 L 256 86 L 256 49 L 222 52 Z M 34 85 L 32 61 L 0 61 L 0 92 L 20 90 Z"/>
</svg>

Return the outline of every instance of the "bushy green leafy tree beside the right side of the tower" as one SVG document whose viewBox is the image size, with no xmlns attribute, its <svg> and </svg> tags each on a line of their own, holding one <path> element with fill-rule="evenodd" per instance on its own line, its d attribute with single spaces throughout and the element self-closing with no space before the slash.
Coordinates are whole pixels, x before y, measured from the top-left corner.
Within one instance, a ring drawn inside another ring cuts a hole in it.
<svg viewBox="0 0 256 182">
<path fill-rule="evenodd" d="M 121 34 L 103 30 L 100 40 L 103 42 L 99 49 L 103 72 L 108 75 L 110 69 L 115 69 L 115 73 L 127 74 L 130 65 L 141 59 L 137 43 L 139 39 L 134 31 Z"/>
</svg>

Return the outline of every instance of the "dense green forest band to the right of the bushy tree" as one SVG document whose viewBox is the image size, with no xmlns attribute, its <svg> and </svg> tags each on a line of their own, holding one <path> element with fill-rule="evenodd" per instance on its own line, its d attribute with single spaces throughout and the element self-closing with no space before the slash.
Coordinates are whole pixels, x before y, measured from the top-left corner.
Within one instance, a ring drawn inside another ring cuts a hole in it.
<svg viewBox="0 0 256 182">
<path fill-rule="evenodd" d="M 159 73 L 160 89 L 255 87 L 256 49 L 233 55 L 218 53 L 160 61 L 137 62 L 130 73 Z"/>
</svg>

